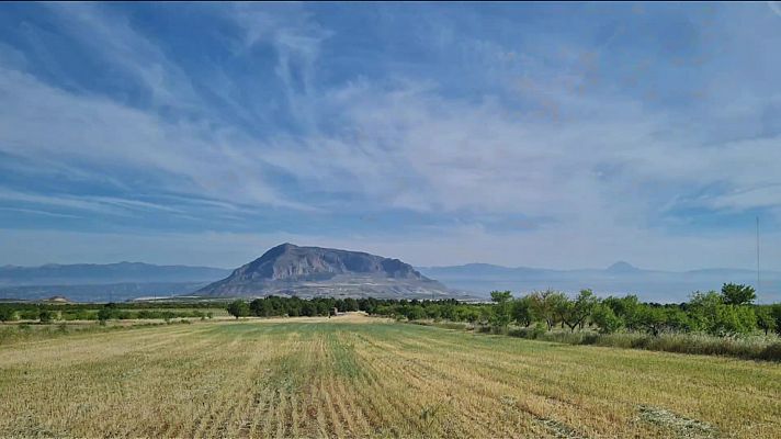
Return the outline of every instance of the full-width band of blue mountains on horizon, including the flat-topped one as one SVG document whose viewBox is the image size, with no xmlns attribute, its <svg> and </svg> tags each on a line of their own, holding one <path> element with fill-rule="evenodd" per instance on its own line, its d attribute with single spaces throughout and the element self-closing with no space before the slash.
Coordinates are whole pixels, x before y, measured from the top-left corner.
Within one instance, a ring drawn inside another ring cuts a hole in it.
<svg viewBox="0 0 781 439">
<path fill-rule="evenodd" d="M 759 301 L 781 302 L 781 272 L 763 270 L 760 274 Z M 491 290 L 519 294 L 551 288 L 575 293 L 590 288 L 602 296 L 634 293 L 645 301 L 682 302 L 693 291 L 718 290 L 725 282 L 755 285 L 757 273 L 728 268 L 645 270 L 626 262 L 581 270 L 488 263 L 414 268 L 364 252 L 285 244 L 234 271 L 140 262 L 4 266 L 0 267 L 0 300 L 64 295 L 72 301 L 105 302 L 195 292 L 206 296 L 487 297 Z"/>
</svg>

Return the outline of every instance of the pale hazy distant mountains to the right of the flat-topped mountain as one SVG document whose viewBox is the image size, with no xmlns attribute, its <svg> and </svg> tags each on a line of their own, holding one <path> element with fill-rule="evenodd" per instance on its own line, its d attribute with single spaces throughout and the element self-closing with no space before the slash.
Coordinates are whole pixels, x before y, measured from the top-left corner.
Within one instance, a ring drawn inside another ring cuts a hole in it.
<svg viewBox="0 0 781 439">
<path fill-rule="evenodd" d="M 694 291 L 718 290 L 725 282 L 756 285 L 757 272 L 740 269 L 703 269 L 690 271 L 644 270 L 627 262 L 605 269 L 552 270 L 529 267 L 501 267 L 467 263 L 452 267 L 419 267 L 418 270 L 450 288 L 482 293 L 510 290 L 528 293 L 553 289 L 575 293 L 591 289 L 599 295 L 637 294 L 645 301 L 683 302 Z M 781 272 L 761 271 L 760 302 L 781 300 Z"/>
</svg>

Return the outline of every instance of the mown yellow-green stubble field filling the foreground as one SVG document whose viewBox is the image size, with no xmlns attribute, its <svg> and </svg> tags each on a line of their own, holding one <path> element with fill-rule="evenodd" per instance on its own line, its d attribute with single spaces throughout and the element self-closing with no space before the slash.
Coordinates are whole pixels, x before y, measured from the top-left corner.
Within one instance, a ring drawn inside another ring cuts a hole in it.
<svg viewBox="0 0 781 439">
<path fill-rule="evenodd" d="M 781 365 L 367 317 L 0 347 L 1 437 L 778 437 Z"/>
</svg>

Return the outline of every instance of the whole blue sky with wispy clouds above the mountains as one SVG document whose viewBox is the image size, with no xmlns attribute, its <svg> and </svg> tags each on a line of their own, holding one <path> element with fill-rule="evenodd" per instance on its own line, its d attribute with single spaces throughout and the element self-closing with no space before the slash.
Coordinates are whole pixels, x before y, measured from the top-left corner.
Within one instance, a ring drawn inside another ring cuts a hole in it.
<svg viewBox="0 0 781 439">
<path fill-rule="evenodd" d="M 781 270 L 781 3 L 0 4 L 0 264 Z"/>
</svg>

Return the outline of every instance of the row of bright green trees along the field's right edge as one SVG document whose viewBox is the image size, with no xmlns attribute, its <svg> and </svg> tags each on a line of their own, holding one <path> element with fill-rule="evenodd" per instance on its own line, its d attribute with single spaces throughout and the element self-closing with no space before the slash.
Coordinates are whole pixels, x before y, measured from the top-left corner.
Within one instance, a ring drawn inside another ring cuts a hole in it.
<svg viewBox="0 0 781 439">
<path fill-rule="evenodd" d="M 695 292 L 680 304 L 643 303 L 636 295 L 599 299 L 591 290 L 581 290 L 575 297 L 552 290 L 521 297 L 513 297 L 509 291 L 494 291 L 490 295 L 489 307 L 423 301 L 399 303 L 382 311 L 409 320 L 444 318 L 499 330 L 516 324 L 548 331 L 555 327 L 569 331 L 589 327 L 602 334 L 625 329 L 654 336 L 661 333 L 727 336 L 757 330 L 781 335 L 781 304 L 754 305 L 756 292 L 750 285 L 726 283 L 721 292 Z"/>
</svg>

